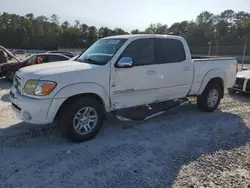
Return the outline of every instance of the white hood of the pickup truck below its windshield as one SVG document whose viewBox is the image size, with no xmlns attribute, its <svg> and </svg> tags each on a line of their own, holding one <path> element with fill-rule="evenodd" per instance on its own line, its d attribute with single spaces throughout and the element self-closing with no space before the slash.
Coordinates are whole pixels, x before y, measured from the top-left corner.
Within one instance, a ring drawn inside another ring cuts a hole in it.
<svg viewBox="0 0 250 188">
<path fill-rule="evenodd" d="M 19 75 L 32 73 L 37 76 L 48 76 L 48 75 L 65 73 L 65 72 L 92 69 L 96 67 L 99 67 L 99 65 L 93 65 L 93 64 L 88 64 L 88 63 L 67 60 L 67 61 L 57 61 L 57 62 L 50 62 L 50 63 L 44 63 L 40 65 L 32 65 L 32 66 L 24 67 L 20 69 L 18 73 Z"/>
</svg>

